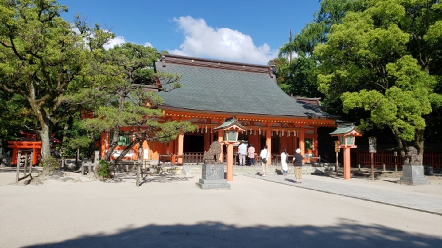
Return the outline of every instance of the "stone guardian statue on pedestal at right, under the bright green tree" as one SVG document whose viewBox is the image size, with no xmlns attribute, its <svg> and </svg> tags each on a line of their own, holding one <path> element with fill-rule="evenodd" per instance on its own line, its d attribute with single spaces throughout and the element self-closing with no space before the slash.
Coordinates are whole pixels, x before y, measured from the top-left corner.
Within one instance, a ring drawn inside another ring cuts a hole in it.
<svg viewBox="0 0 442 248">
<path fill-rule="evenodd" d="M 402 166 L 402 177 L 397 181 L 399 184 L 431 184 L 423 176 L 423 166 L 420 164 L 420 157 L 415 147 L 407 147 L 407 158 Z"/>
</svg>

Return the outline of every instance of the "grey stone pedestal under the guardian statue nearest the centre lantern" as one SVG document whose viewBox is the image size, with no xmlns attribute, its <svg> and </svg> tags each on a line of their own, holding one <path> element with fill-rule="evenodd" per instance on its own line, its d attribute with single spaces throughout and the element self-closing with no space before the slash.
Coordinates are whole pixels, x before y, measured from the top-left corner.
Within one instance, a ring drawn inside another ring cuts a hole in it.
<svg viewBox="0 0 442 248">
<path fill-rule="evenodd" d="M 201 189 L 230 188 L 230 184 L 224 179 L 224 165 L 202 165 L 202 178 L 195 186 Z"/>
</svg>

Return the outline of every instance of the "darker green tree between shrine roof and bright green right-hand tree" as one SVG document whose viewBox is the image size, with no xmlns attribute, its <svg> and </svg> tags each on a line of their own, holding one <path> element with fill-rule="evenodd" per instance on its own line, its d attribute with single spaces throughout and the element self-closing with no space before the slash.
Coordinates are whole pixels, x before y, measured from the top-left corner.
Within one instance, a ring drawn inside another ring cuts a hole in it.
<svg viewBox="0 0 442 248">
<path fill-rule="evenodd" d="M 321 8 L 314 13 L 313 20 L 299 34 L 289 37 L 289 42 L 282 45 L 279 58 L 274 61 L 279 86 L 288 94 L 324 97 L 318 90 L 318 58 L 314 49 L 318 44 L 327 42 L 331 25 L 339 23 L 346 11 L 364 8 L 362 1 L 355 0 L 323 0 L 320 4 Z M 292 63 L 286 59 L 289 56 L 293 57 Z"/>
</svg>

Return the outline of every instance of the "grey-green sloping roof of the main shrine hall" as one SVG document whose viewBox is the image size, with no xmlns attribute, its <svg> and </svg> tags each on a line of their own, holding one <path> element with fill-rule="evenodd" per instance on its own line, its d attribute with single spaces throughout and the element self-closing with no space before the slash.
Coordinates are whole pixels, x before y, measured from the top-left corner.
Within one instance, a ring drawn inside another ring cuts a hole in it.
<svg viewBox="0 0 442 248">
<path fill-rule="evenodd" d="M 297 101 L 284 93 L 275 76 L 188 64 L 156 63 L 156 70 L 183 75 L 182 88 L 160 91 L 164 106 L 232 115 L 257 114 L 298 118 L 337 119 L 319 106 Z"/>
</svg>

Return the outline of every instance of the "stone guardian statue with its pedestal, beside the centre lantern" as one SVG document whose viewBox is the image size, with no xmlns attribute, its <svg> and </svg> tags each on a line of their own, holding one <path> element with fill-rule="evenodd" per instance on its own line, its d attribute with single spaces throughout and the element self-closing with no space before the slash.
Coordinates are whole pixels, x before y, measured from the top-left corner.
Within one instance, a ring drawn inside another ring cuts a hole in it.
<svg viewBox="0 0 442 248">
<path fill-rule="evenodd" d="M 221 143 L 215 141 L 209 150 L 204 152 L 202 176 L 195 186 L 201 189 L 230 188 L 230 184 L 224 179 L 224 164 L 220 163 Z"/>
</svg>

